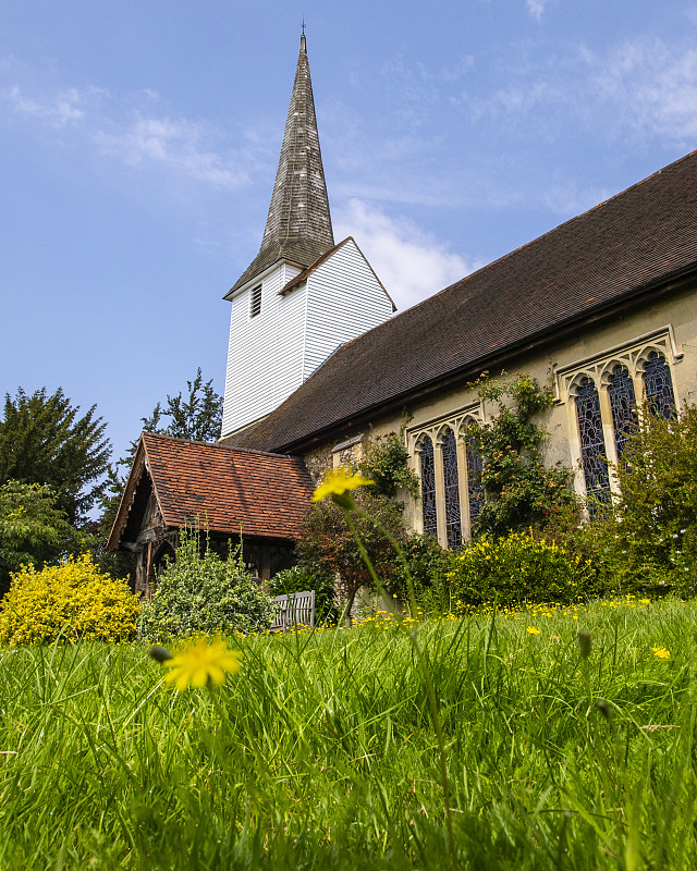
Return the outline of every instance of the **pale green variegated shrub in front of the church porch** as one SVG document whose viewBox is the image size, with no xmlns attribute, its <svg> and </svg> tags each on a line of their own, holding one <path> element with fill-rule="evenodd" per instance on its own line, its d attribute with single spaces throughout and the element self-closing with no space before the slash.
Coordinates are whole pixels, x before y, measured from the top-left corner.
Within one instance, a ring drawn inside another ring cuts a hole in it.
<svg viewBox="0 0 697 871">
<path fill-rule="evenodd" d="M 140 634 L 166 640 L 178 636 L 261 631 L 271 624 L 271 598 L 246 571 L 242 548 L 222 560 L 210 548 L 201 555 L 200 535 L 184 530 L 152 601 L 143 609 Z"/>
</svg>

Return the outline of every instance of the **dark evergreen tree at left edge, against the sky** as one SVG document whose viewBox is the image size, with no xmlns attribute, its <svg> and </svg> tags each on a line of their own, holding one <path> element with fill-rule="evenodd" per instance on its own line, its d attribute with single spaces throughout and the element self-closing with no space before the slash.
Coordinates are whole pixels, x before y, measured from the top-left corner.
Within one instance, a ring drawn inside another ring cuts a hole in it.
<svg viewBox="0 0 697 871">
<path fill-rule="evenodd" d="M 0 421 L 0 483 L 50 486 L 56 506 L 74 525 L 99 499 L 111 454 L 96 406 L 78 412 L 61 388 L 50 395 L 46 388 L 30 395 L 20 388 L 14 398 L 5 395 Z"/>
</svg>

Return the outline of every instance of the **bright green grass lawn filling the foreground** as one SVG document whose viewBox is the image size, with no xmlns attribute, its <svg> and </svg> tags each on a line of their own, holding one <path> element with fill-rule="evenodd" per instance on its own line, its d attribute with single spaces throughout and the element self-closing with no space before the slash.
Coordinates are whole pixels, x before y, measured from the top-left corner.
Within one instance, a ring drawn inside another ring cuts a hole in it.
<svg viewBox="0 0 697 871">
<path fill-rule="evenodd" d="M 595 602 L 248 637 L 176 694 L 140 645 L 0 651 L 0 869 L 690 869 L 696 612 Z M 578 629 L 591 634 L 579 655 Z"/>
</svg>

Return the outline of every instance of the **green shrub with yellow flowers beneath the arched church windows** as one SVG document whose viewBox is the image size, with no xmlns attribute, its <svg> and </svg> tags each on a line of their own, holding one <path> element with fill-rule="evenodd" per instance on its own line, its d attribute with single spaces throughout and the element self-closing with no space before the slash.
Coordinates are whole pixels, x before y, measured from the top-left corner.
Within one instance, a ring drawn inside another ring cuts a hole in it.
<svg viewBox="0 0 697 871">
<path fill-rule="evenodd" d="M 482 536 L 454 557 L 448 573 L 453 609 L 494 602 L 571 602 L 585 590 L 580 560 L 527 532 Z"/>
</svg>

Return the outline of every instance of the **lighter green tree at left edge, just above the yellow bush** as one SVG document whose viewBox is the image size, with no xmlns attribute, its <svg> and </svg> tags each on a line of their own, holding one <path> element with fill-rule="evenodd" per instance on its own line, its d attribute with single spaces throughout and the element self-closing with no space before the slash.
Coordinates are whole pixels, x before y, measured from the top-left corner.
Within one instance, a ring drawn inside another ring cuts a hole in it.
<svg viewBox="0 0 697 871">
<path fill-rule="evenodd" d="M 57 563 L 89 543 L 57 506 L 50 487 L 22 481 L 0 487 L 0 596 L 10 588 L 11 572 Z"/>
</svg>

